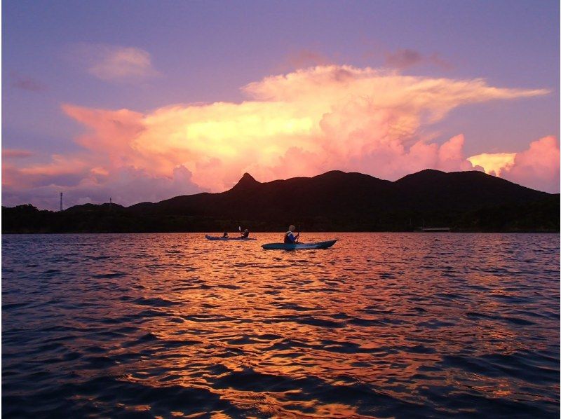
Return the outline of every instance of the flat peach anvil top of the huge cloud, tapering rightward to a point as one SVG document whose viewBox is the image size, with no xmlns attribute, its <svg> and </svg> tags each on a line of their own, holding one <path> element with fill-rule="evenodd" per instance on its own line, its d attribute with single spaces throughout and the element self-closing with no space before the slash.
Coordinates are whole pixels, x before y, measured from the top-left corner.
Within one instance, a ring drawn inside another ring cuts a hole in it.
<svg viewBox="0 0 561 419">
<path fill-rule="evenodd" d="M 329 109 L 352 99 L 367 99 L 384 109 L 415 111 L 427 109 L 436 119 L 465 104 L 492 99 L 515 99 L 545 95 L 548 90 L 494 88 L 482 78 L 454 80 L 403 76 L 384 69 L 351 66 L 318 66 L 289 74 L 269 76 L 249 83 L 243 90 L 253 99 L 298 103 L 316 103 Z M 320 104 L 318 102 L 328 101 Z"/>
</svg>

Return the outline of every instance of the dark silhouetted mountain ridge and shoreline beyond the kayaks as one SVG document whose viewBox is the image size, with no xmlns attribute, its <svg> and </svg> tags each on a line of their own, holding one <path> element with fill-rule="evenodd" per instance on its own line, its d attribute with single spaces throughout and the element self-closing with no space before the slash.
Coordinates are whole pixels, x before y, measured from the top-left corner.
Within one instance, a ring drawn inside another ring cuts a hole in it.
<svg viewBox="0 0 561 419">
<path fill-rule="evenodd" d="M 130 207 L 77 205 L 62 212 L 2 207 L 2 233 L 285 231 L 559 232 L 560 195 L 482 172 L 423 170 L 398 181 L 360 173 L 259 183 L 249 174 L 230 191 Z"/>
</svg>

